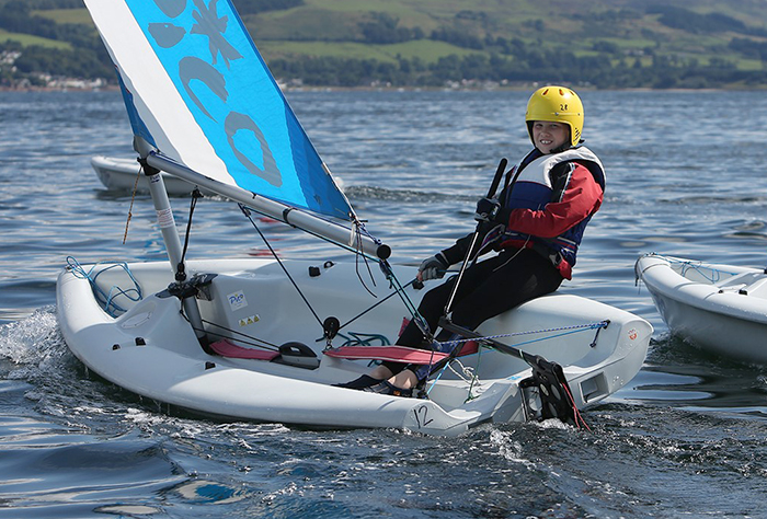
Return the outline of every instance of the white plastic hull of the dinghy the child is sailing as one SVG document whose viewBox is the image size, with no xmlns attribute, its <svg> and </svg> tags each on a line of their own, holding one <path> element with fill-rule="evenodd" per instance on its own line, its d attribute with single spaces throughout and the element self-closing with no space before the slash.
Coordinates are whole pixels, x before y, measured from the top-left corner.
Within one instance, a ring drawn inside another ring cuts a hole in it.
<svg viewBox="0 0 767 519">
<path fill-rule="evenodd" d="M 346 323 L 377 301 L 356 279 L 353 263 L 320 264 L 319 276 L 308 274 L 309 266 L 317 263 L 284 264 L 306 298 L 321 301 L 317 309 L 323 319 L 333 315 Z M 137 263 L 128 267 L 145 297 L 135 303 L 117 298 L 121 304 L 130 304 L 117 318 L 102 310 L 88 279 L 71 268 L 65 270 L 57 286 L 59 324 L 69 348 L 90 370 L 158 403 L 228 419 L 318 428 L 391 427 L 449 436 L 488 422 L 529 419 L 525 402 L 533 411 L 540 405 L 535 392 L 518 385 L 530 376 L 529 366 L 485 348 L 481 354 L 460 357 L 455 371 L 446 370 L 433 387 L 428 384 L 427 399 L 332 387 L 367 372 L 369 362 L 322 354 L 325 341 L 318 342 L 321 325 L 285 280 L 279 265 L 271 260 L 187 262 L 190 276 L 216 274 L 207 290 L 209 300 L 198 300 L 206 328 L 234 343 L 242 339 L 241 334 L 275 345 L 304 343 L 317 353 L 319 367 L 306 369 L 208 355 L 182 315 L 180 300 L 163 293 L 173 281 L 169 265 Z M 415 269 L 398 267 L 398 274 L 414 276 Z M 128 288 L 131 281 L 125 270 L 112 268 L 98 276 L 98 284 L 110 291 L 113 286 Z M 380 300 L 388 287 L 381 280 L 377 287 L 369 288 Z M 414 301 L 425 291 L 407 290 Z M 353 334 L 393 343 L 405 315 L 401 301 L 390 298 L 343 326 L 333 346 Z M 609 324 L 604 328 L 579 328 L 595 321 Z M 526 331 L 541 332 L 501 341 L 527 343 L 519 346 L 525 353 L 561 364 L 579 408 L 600 402 L 636 376 L 652 334 L 651 325 L 636 315 L 561 293 L 525 303 L 479 330 L 483 334 Z M 550 338 L 536 342 L 545 336 Z M 472 372 L 474 379 L 468 374 Z"/>
</svg>

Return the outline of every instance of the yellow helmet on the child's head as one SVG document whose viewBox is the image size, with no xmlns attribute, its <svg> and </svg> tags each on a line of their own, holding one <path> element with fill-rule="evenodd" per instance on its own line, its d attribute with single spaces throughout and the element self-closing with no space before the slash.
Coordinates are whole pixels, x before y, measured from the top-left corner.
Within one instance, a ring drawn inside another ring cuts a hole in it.
<svg viewBox="0 0 767 519">
<path fill-rule="evenodd" d="M 564 123 L 570 126 L 572 146 L 581 141 L 583 131 L 583 103 L 575 92 L 566 86 L 549 85 L 536 90 L 527 102 L 525 122 L 533 140 L 533 122 Z"/>
</svg>

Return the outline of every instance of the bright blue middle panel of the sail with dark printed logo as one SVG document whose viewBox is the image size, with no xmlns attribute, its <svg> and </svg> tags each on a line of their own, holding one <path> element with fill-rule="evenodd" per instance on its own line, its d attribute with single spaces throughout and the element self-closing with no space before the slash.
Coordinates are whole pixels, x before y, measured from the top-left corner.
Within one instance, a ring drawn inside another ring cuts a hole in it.
<svg viewBox="0 0 767 519">
<path fill-rule="evenodd" d="M 262 76 L 259 81 L 273 80 L 237 23 L 230 3 L 226 0 L 209 0 L 207 4 L 206 0 L 153 0 L 151 3 L 159 10 L 152 9 L 146 0 L 128 0 L 128 3 L 190 112 L 216 154 L 227 164 L 229 174 L 240 184 L 237 177 L 244 169 L 271 186 L 282 187 L 284 180 L 275 153 L 282 153 L 279 160 L 285 161 L 289 158 L 286 153 L 291 152 L 270 146 L 263 124 L 253 118 L 257 115 L 262 122 L 275 117 L 284 120 L 285 115 L 279 114 L 282 100 L 278 104 L 266 100 L 255 106 L 252 99 L 247 99 L 243 77 L 252 78 L 255 71 Z M 243 58 L 251 58 L 251 61 Z M 257 67 L 252 65 L 253 59 L 257 59 Z M 252 89 L 251 93 L 256 94 Z M 263 93 L 257 95 L 264 101 Z M 282 131 L 287 132 L 287 128 Z M 289 138 L 279 140 L 289 141 Z"/>
</svg>

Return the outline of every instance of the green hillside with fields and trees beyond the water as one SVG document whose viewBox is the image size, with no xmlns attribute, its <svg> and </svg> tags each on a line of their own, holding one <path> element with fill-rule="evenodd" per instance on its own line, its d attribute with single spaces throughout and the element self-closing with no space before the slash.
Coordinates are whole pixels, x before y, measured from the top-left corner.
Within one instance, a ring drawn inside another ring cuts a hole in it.
<svg viewBox="0 0 767 519">
<path fill-rule="evenodd" d="M 275 76 L 314 85 L 763 88 L 764 0 L 233 0 Z M 81 0 L 0 0 L 0 84 L 112 79 Z"/>
</svg>

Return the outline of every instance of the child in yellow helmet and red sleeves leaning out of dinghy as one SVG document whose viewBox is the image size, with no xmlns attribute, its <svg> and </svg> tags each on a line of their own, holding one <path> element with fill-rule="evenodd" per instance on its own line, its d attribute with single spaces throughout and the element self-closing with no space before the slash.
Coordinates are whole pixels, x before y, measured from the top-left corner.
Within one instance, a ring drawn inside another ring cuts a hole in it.
<svg viewBox="0 0 767 519">
<path fill-rule="evenodd" d="M 485 320 L 525 301 L 557 290 L 571 279 L 579 245 L 602 205 L 605 171 L 599 159 L 580 146 L 583 104 L 571 89 L 543 86 L 530 96 L 525 122 L 534 149 L 506 174 L 497 198 L 482 198 L 474 218 L 479 240 L 469 257 L 497 254 L 466 268 L 455 292 L 453 323 L 474 330 Z M 467 257 L 473 233 L 425 260 L 420 280 L 439 279 Z M 458 276 L 430 290 L 419 312 L 432 333 L 438 325 Z M 442 331 L 436 339 L 449 341 Z M 398 345 L 432 348 L 411 321 Z M 428 373 L 419 366 L 384 362 L 369 374 L 341 384 L 402 396 L 412 395 Z"/>
</svg>

